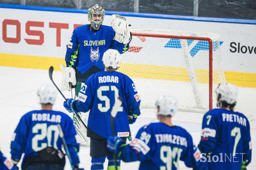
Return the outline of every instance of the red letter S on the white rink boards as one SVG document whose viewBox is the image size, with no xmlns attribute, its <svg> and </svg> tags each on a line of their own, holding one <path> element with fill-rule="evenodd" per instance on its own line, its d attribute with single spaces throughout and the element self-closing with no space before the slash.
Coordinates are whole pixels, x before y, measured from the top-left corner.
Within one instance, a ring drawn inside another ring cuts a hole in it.
<svg viewBox="0 0 256 170">
<path fill-rule="evenodd" d="M 39 36 L 39 40 L 24 39 L 28 44 L 42 45 L 44 43 L 44 33 L 42 31 L 30 30 L 30 27 L 44 27 L 44 22 L 28 21 L 26 23 L 26 33 Z"/>
</svg>

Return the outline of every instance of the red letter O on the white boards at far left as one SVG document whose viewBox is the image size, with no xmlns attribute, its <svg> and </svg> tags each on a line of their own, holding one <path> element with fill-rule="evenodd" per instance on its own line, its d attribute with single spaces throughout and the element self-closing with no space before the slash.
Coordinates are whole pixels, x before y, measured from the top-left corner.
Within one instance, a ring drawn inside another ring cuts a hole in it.
<svg viewBox="0 0 256 170">
<path fill-rule="evenodd" d="M 16 38 L 7 37 L 7 25 L 16 26 Z M 9 43 L 19 43 L 20 42 L 20 22 L 18 20 L 5 19 L 3 21 L 3 40 Z"/>
</svg>

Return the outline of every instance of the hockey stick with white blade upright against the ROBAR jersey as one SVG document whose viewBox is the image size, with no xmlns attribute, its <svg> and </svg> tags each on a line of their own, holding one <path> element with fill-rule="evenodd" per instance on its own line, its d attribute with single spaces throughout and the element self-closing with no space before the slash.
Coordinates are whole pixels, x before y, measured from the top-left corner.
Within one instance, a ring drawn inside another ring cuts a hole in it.
<svg viewBox="0 0 256 170">
<path fill-rule="evenodd" d="M 112 131 L 112 136 L 115 136 L 115 127 L 114 127 L 114 118 L 118 112 L 119 107 L 122 105 L 122 98 L 119 96 L 118 99 L 115 100 L 115 103 L 112 107 L 111 110 L 111 131 Z M 116 159 L 116 154 L 113 154 L 114 161 L 115 161 L 115 170 L 117 170 L 117 159 Z"/>
</svg>

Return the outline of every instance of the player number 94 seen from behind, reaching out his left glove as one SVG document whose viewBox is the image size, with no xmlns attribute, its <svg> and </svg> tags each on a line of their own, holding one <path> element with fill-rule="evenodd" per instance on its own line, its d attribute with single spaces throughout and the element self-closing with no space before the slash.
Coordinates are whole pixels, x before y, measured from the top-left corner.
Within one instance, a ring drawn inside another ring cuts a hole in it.
<svg viewBox="0 0 256 170">
<path fill-rule="evenodd" d="M 139 169 L 175 170 L 179 160 L 187 167 L 207 169 L 207 163 L 200 162 L 200 152 L 193 146 L 189 133 L 172 124 L 171 119 L 178 110 L 177 100 L 163 95 L 157 100 L 156 107 L 159 123 L 142 127 L 128 145 L 119 137 L 109 137 L 108 150 L 124 162 L 141 161 Z"/>
</svg>

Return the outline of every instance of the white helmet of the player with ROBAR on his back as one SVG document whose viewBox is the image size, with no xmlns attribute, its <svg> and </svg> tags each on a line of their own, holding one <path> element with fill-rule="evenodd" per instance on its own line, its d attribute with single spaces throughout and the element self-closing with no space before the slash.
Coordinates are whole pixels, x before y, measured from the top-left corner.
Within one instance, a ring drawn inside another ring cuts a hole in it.
<svg viewBox="0 0 256 170">
<path fill-rule="evenodd" d="M 121 54 L 117 50 L 108 49 L 104 52 L 102 61 L 105 67 L 108 67 L 109 69 L 118 69 L 118 65 L 121 61 Z"/>
</svg>

